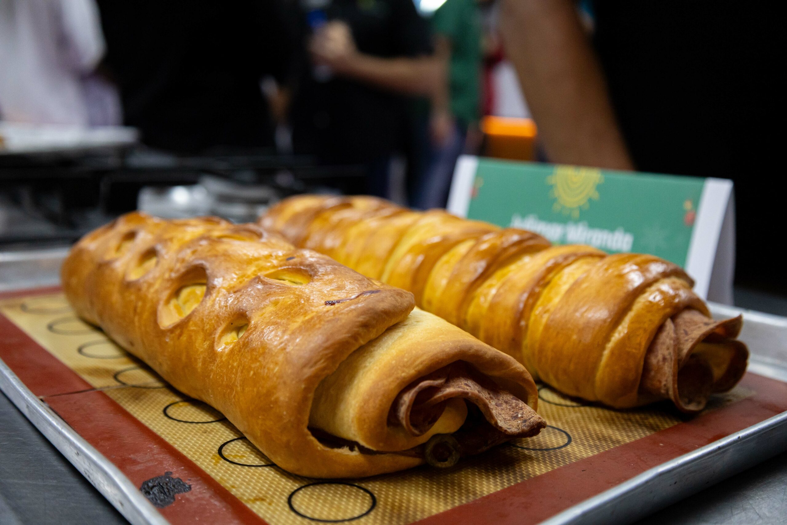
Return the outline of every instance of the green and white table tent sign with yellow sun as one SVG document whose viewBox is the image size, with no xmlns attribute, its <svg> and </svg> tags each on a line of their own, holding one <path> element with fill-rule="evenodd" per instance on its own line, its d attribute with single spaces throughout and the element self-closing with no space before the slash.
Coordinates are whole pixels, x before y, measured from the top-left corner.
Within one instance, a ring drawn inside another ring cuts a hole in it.
<svg viewBox="0 0 787 525">
<path fill-rule="evenodd" d="M 448 209 L 556 244 L 652 253 L 685 268 L 703 298 L 731 303 L 730 180 L 464 156 Z"/>
</svg>

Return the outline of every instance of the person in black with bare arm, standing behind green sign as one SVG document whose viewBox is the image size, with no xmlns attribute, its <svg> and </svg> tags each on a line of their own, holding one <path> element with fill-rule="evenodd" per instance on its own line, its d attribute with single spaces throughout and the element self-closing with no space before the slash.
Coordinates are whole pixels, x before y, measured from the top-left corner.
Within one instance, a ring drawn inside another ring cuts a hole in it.
<svg viewBox="0 0 787 525">
<path fill-rule="evenodd" d="M 583 4 L 592 35 L 573 0 L 502 0 L 505 49 L 549 161 L 733 179 L 738 283 L 787 291 L 762 251 L 781 223 L 762 205 L 783 184 L 769 176 L 783 149 L 780 17 L 767 2 Z"/>
</svg>

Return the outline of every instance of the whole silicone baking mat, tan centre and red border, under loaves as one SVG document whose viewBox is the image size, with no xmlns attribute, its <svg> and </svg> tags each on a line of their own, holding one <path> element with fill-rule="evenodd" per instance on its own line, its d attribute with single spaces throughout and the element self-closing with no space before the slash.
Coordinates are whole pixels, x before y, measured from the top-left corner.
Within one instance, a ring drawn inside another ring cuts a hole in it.
<svg viewBox="0 0 787 525">
<path fill-rule="evenodd" d="M 583 405 L 540 386 L 549 427 L 538 437 L 445 470 L 308 479 L 276 467 L 220 412 L 84 324 L 59 291 L 6 294 L 0 314 L 0 357 L 172 523 L 538 523 L 787 409 L 787 385 L 753 374 L 691 419 L 666 404 Z"/>
</svg>

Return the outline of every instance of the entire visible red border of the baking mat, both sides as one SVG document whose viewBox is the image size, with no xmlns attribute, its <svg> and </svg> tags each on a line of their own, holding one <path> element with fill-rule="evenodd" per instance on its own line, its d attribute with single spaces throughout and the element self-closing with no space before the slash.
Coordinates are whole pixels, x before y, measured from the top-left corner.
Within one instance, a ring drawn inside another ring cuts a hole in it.
<svg viewBox="0 0 787 525">
<path fill-rule="evenodd" d="M 54 293 L 59 287 L 16 290 L 0 298 Z M 216 480 L 123 407 L 91 386 L 46 349 L 0 316 L 0 358 L 37 396 L 112 461 L 135 486 L 164 471 L 187 480 L 192 490 L 161 509 L 171 523 L 265 523 Z M 422 519 L 420 525 L 526 525 L 613 488 L 664 462 L 787 411 L 787 383 L 748 373 L 742 386 L 752 397 L 697 416 L 615 449 L 565 465 L 464 505 Z M 86 406 L 87 405 L 87 406 Z"/>
</svg>

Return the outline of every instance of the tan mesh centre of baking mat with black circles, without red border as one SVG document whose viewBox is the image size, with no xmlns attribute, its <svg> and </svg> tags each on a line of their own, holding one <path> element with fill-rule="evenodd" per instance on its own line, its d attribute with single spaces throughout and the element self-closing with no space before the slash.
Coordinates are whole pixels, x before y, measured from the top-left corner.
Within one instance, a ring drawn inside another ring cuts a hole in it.
<svg viewBox="0 0 787 525">
<path fill-rule="evenodd" d="M 62 294 L 0 301 L 0 312 L 91 386 L 101 389 L 272 525 L 344 521 L 404 524 L 454 508 L 552 469 L 681 422 L 661 407 L 615 411 L 581 405 L 541 386 L 549 427 L 453 468 L 315 483 L 275 467 L 220 412 L 189 400 L 145 364 L 84 324 Z M 711 408 L 747 397 L 737 387 Z"/>
</svg>

